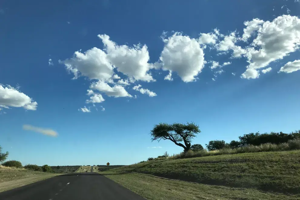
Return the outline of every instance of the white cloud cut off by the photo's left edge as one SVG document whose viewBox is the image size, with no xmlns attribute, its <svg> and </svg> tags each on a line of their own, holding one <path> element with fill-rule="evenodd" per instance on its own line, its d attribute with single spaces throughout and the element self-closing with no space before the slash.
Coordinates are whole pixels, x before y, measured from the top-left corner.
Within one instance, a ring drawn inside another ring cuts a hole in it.
<svg viewBox="0 0 300 200">
<path fill-rule="evenodd" d="M 26 110 L 36 110 L 38 103 L 10 85 L 0 84 L 0 107 L 23 107 Z"/>
</svg>

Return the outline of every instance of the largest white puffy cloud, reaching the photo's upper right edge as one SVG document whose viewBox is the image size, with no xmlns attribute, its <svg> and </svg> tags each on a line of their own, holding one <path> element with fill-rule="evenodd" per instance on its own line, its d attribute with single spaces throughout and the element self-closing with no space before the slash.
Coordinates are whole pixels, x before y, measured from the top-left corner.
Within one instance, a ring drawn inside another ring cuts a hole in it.
<svg viewBox="0 0 300 200">
<path fill-rule="evenodd" d="M 258 19 L 254 20 L 258 21 Z M 265 68 L 271 62 L 282 59 L 299 49 L 300 18 L 297 16 L 282 15 L 272 22 L 259 21 L 256 26 L 257 35 L 246 48 L 245 57 L 249 65 L 247 73 L 244 72 L 242 78 L 258 78 L 257 69 Z M 254 73 L 248 73 L 250 71 Z"/>
</svg>

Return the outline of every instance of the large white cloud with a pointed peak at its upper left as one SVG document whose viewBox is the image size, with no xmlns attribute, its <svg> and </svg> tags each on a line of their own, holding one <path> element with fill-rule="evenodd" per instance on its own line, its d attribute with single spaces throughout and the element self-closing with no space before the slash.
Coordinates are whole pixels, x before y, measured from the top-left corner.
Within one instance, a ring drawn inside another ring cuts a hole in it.
<svg viewBox="0 0 300 200">
<path fill-rule="evenodd" d="M 154 68 L 154 65 L 148 63 L 150 57 L 146 45 L 119 46 L 111 41 L 108 35 L 98 35 L 98 37 L 102 39 L 109 62 L 117 68 L 118 72 L 122 72 L 137 81 L 155 81 L 149 72 L 150 69 Z"/>
</svg>

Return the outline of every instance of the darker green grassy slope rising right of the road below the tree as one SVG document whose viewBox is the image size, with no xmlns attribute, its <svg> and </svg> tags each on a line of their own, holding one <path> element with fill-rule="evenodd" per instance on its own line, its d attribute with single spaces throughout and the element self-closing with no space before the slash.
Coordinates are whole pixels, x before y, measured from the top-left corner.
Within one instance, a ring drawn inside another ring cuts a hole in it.
<svg viewBox="0 0 300 200">
<path fill-rule="evenodd" d="M 169 158 L 107 171 L 107 173 L 131 172 L 232 188 L 300 193 L 299 150 L 185 159 Z"/>
</svg>

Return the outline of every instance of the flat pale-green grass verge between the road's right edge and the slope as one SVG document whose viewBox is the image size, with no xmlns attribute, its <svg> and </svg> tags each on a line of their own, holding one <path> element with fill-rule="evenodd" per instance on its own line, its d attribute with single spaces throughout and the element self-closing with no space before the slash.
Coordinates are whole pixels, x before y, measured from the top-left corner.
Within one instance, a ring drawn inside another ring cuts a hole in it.
<svg viewBox="0 0 300 200">
<path fill-rule="evenodd" d="M 109 171 L 101 172 L 109 174 Z M 230 188 L 129 173 L 106 175 L 148 200 L 296 200 L 300 195 L 261 192 L 256 189 Z"/>
</svg>

